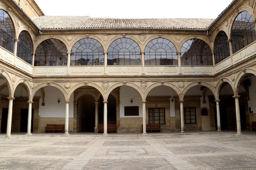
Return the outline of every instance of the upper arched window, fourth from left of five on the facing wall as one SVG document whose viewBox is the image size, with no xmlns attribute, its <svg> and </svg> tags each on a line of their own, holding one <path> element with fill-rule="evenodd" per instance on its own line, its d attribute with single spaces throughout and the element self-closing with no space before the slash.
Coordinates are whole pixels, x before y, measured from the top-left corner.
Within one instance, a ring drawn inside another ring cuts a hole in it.
<svg viewBox="0 0 256 170">
<path fill-rule="evenodd" d="M 145 65 L 178 65 L 174 44 L 164 38 L 156 38 L 145 47 Z"/>
</svg>

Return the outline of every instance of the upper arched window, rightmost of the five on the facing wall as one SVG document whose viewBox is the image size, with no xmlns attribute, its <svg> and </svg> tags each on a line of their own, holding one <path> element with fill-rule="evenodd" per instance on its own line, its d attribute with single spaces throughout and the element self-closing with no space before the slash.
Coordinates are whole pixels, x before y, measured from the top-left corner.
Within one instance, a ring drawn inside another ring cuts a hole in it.
<svg viewBox="0 0 256 170">
<path fill-rule="evenodd" d="M 181 65 L 212 65 L 212 51 L 203 40 L 187 40 L 180 52 Z"/>
</svg>

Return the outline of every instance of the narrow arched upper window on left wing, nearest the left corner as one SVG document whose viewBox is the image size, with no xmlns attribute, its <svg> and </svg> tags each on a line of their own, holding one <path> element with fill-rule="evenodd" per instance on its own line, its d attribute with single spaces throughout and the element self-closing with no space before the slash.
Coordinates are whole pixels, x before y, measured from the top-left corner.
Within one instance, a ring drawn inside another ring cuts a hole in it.
<svg viewBox="0 0 256 170">
<path fill-rule="evenodd" d="M 32 64 L 33 43 L 28 31 L 22 31 L 19 35 L 19 41 L 17 44 L 17 56 L 29 64 Z"/>
</svg>

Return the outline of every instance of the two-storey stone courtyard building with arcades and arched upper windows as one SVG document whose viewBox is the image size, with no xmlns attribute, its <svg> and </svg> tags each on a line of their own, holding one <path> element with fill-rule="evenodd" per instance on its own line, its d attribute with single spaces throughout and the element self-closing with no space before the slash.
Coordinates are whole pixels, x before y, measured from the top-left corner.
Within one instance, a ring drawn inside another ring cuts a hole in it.
<svg viewBox="0 0 256 170">
<path fill-rule="evenodd" d="M 256 121 L 255 18 L 254 0 L 217 19 L 52 17 L 0 0 L 0 132 L 241 134 Z"/>
</svg>

